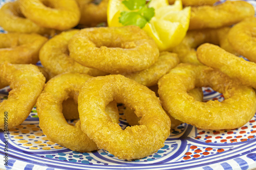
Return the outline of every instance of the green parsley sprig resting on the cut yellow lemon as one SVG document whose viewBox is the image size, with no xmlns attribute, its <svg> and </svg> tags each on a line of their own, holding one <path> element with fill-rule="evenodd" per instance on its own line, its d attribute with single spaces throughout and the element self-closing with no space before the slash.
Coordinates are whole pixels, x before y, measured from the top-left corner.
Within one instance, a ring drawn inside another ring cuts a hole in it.
<svg viewBox="0 0 256 170">
<path fill-rule="evenodd" d="M 123 26 L 139 26 L 145 27 L 146 22 L 149 22 L 155 15 L 154 8 L 148 8 L 146 0 L 125 0 L 122 3 L 131 11 L 122 11 L 119 17 L 119 22 Z"/>
</svg>

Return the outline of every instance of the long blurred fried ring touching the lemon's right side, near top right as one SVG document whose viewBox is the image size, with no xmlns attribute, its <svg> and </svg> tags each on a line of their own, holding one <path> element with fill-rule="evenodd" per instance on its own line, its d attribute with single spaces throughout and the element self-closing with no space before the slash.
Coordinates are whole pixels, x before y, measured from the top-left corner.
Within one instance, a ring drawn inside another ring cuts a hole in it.
<svg viewBox="0 0 256 170">
<path fill-rule="evenodd" d="M 245 1 L 226 1 L 217 6 L 191 8 L 189 30 L 231 26 L 254 16 L 254 8 Z"/>
</svg>

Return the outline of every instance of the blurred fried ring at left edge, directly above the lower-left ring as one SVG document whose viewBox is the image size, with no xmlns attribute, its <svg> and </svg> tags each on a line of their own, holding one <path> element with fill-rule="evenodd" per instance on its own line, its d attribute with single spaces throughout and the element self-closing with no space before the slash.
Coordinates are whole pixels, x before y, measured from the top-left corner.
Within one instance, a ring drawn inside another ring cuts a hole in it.
<svg viewBox="0 0 256 170">
<path fill-rule="evenodd" d="M 0 34 L 0 63 L 36 64 L 39 50 L 47 40 L 38 34 Z"/>
</svg>

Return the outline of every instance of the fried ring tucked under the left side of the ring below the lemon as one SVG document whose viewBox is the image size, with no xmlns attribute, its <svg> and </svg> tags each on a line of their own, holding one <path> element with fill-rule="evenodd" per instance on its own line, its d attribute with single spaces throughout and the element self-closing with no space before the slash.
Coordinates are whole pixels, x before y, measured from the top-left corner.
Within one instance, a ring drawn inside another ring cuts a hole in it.
<svg viewBox="0 0 256 170">
<path fill-rule="evenodd" d="M 77 32 L 78 30 L 62 32 L 41 48 L 39 59 L 47 72 L 50 72 L 50 77 L 64 72 L 79 72 L 91 76 L 106 75 L 103 71 L 83 66 L 69 57 L 68 43 Z"/>
</svg>

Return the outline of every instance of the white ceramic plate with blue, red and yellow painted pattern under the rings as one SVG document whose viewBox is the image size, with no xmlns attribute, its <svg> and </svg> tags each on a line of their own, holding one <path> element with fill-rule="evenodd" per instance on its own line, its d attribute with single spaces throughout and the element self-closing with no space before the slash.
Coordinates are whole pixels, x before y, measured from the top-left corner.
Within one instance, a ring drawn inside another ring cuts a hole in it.
<svg viewBox="0 0 256 170">
<path fill-rule="evenodd" d="M 255 1 L 248 1 L 256 6 Z M 0 0 L 0 6 L 6 3 Z M 0 90 L 7 99 L 9 88 Z M 203 88 L 204 101 L 223 101 L 223 95 Z M 122 112 L 123 106 L 119 106 Z M 120 113 L 122 117 L 122 113 Z M 51 142 L 39 128 L 36 108 L 22 125 L 0 131 L 0 169 L 253 169 L 256 168 L 256 115 L 234 130 L 204 130 L 181 124 L 172 129 L 158 152 L 142 159 L 119 160 L 107 151 L 71 151 Z M 74 124 L 75 121 L 70 121 Z M 120 119 L 120 126 L 129 126 Z M 8 145 L 4 142 L 8 140 Z M 8 154 L 6 158 L 5 155 Z M 8 160 L 8 166 L 5 166 Z"/>
</svg>

